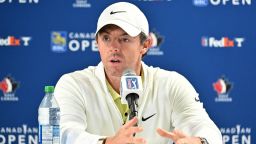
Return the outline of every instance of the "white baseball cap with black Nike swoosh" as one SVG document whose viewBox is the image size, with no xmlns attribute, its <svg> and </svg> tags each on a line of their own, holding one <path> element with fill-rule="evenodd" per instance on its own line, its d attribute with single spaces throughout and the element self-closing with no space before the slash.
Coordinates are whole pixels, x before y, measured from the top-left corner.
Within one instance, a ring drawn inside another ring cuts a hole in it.
<svg viewBox="0 0 256 144">
<path fill-rule="evenodd" d="M 117 2 L 108 6 L 98 19 L 96 34 L 108 24 L 119 26 L 132 37 L 141 32 L 147 36 L 149 34 L 146 16 L 137 6 L 128 2 Z"/>
</svg>

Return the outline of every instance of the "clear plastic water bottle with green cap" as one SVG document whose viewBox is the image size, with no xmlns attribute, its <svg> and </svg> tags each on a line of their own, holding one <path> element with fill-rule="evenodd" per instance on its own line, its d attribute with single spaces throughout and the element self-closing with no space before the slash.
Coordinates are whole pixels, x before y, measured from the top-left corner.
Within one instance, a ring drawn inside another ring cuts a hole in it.
<svg viewBox="0 0 256 144">
<path fill-rule="evenodd" d="M 45 86 L 45 96 L 38 109 L 39 144 L 60 143 L 60 108 L 53 96 L 54 86 Z"/>
</svg>

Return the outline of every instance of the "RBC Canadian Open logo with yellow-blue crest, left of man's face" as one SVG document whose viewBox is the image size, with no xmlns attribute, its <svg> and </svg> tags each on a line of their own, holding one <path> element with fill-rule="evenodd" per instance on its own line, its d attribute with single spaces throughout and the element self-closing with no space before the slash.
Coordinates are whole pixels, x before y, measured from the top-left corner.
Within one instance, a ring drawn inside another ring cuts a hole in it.
<svg viewBox="0 0 256 144">
<path fill-rule="evenodd" d="M 51 33 L 51 49 L 53 52 L 84 52 L 89 47 L 94 52 L 98 51 L 93 32 L 53 31 Z"/>
</svg>

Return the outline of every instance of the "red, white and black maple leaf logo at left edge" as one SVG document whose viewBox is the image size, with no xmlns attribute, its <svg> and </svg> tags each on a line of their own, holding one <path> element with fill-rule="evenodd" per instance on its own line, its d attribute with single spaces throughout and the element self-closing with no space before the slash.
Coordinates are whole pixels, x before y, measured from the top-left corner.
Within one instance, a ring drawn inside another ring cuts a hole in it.
<svg viewBox="0 0 256 144">
<path fill-rule="evenodd" d="M 15 95 L 15 91 L 19 87 L 19 82 L 14 78 L 7 76 L 0 82 L 0 90 L 3 92 L 1 101 L 18 101 L 19 98 Z"/>
</svg>

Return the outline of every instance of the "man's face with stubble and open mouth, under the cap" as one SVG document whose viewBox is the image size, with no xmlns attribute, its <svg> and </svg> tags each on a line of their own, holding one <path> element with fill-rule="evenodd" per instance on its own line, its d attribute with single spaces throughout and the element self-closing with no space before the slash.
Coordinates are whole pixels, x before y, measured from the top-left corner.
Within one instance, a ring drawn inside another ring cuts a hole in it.
<svg viewBox="0 0 256 144">
<path fill-rule="evenodd" d="M 98 48 L 108 75 L 122 76 L 127 68 L 140 71 L 142 55 L 147 47 L 140 43 L 140 37 L 131 37 L 117 26 L 101 31 L 97 36 Z"/>
</svg>

